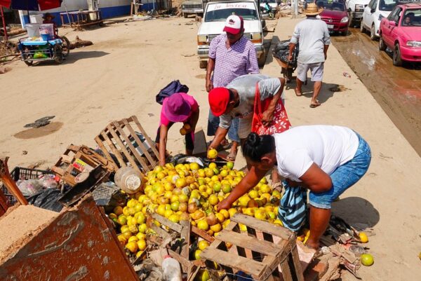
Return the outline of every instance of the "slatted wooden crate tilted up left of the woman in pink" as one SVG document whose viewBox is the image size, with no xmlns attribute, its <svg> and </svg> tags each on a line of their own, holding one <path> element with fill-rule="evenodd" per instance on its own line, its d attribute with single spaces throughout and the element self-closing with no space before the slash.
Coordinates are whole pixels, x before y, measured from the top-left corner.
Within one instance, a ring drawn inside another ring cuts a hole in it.
<svg viewBox="0 0 421 281">
<path fill-rule="evenodd" d="M 142 133 L 146 142 L 151 146 L 150 152 L 136 134 L 136 130 Z M 112 121 L 95 137 L 95 142 L 100 146 L 105 157 L 119 168 L 131 165 L 145 174 L 158 165 L 159 153 L 136 116 L 124 118 L 121 121 Z M 142 151 L 143 156 L 135 146 Z M 112 154 L 116 160 L 112 158 Z"/>
</svg>

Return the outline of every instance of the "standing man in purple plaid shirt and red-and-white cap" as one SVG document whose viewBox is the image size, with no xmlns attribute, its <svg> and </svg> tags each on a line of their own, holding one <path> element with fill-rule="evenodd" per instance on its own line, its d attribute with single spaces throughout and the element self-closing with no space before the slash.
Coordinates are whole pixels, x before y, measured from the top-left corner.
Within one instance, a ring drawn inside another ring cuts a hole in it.
<svg viewBox="0 0 421 281">
<path fill-rule="evenodd" d="M 238 15 L 230 15 L 225 22 L 224 32 L 210 42 L 209 60 L 206 69 L 206 90 L 225 87 L 234 78 L 246 74 L 258 74 L 258 59 L 255 47 L 250 40 L 243 37 L 244 22 Z M 219 117 L 209 110 L 208 136 L 215 135 L 219 126 Z M 239 119 L 235 118 L 228 132 L 233 141 L 228 159 L 234 161 L 240 139 L 238 137 Z M 225 146 L 227 140 L 222 142 Z"/>
</svg>

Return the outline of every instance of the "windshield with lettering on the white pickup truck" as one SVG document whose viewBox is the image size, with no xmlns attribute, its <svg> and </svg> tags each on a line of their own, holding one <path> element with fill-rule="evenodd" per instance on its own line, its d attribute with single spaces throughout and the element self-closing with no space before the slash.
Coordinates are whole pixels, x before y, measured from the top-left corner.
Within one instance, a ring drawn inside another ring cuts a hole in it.
<svg viewBox="0 0 421 281">
<path fill-rule="evenodd" d="M 258 13 L 253 3 L 214 4 L 205 14 L 205 22 L 225 21 L 229 15 L 239 15 L 244 20 L 258 20 Z"/>
</svg>

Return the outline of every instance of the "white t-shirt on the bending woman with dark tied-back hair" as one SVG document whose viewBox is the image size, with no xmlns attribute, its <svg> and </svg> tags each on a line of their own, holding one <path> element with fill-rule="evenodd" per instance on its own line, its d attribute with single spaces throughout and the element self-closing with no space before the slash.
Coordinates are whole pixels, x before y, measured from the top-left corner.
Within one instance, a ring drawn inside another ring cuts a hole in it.
<svg viewBox="0 0 421 281">
<path fill-rule="evenodd" d="M 354 158 L 359 146 L 353 130 L 332 125 L 294 127 L 274 138 L 278 172 L 293 181 L 300 181 L 313 163 L 331 174 Z"/>
</svg>

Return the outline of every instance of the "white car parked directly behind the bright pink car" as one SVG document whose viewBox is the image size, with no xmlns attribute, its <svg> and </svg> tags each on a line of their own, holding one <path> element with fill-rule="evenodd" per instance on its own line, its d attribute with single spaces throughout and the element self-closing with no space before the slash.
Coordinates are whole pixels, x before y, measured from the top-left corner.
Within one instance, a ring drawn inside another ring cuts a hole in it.
<svg viewBox="0 0 421 281">
<path fill-rule="evenodd" d="M 370 0 L 364 8 L 360 30 L 370 30 L 370 39 L 375 40 L 379 36 L 380 20 L 387 18 L 399 0 Z"/>
</svg>

